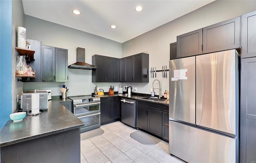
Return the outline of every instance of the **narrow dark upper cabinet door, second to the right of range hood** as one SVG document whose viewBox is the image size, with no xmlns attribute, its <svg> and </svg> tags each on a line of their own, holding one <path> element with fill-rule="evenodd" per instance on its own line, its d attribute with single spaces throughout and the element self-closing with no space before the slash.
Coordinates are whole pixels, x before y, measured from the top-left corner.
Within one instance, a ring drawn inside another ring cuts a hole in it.
<svg viewBox="0 0 256 163">
<path fill-rule="evenodd" d="M 105 57 L 105 82 L 114 82 L 114 58 Z"/>
</svg>

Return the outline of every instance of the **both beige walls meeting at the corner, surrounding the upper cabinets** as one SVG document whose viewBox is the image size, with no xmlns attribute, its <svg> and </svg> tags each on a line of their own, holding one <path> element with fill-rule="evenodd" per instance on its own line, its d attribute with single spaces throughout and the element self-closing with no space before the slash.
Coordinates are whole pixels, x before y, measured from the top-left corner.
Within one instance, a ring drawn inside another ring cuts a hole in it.
<svg viewBox="0 0 256 163">
<path fill-rule="evenodd" d="M 86 62 L 88 63 L 92 63 L 94 54 L 121 58 L 144 52 L 150 55 L 149 67 L 156 66 L 157 70 L 162 70 L 162 65 L 169 64 L 170 43 L 176 42 L 177 35 L 240 16 L 254 11 L 255 8 L 256 1 L 217 0 L 122 44 L 31 16 L 25 16 L 25 27 L 27 38 L 40 40 L 43 45 L 68 49 L 69 65 L 76 61 L 76 47 L 83 47 L 86 49 Z M 66 84 L 69 88 L 68 96 L 74 96 L 90 94 L 96 85 L 107 91 L 110 85 L 120 84 L 92 83 L 91 75 L 92 71 L 69 69 L 67 83 L 30 82 L 24 83 L 24 90 L 52 89 L 53 96 L 56 96 L 61 95 L 60 88 L 62 84 Z M 161 82 L 161 94 L 169 89 L 169 78 L 163 79 L 161 72 L 158 72 L 157 78 L 154 79 L 159 79 Z M 122 84 L 137 87 L 139 93 L 150 94 L 154 79 L 150 78 L 149 83 Z M 156 84 L 155 87 L 158 85 Z M 156 91 L 156 94 L 158 93 Z"/>
</svg>

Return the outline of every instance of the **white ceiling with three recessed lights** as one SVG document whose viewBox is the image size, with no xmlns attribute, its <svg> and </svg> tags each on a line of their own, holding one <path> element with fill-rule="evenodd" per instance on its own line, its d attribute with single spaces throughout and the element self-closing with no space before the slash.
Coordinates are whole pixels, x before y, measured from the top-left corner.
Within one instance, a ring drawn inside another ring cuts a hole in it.
<svg viewBox="0 0 256 163">
<path fill-rule="evenodd" d="M 24 14 L 120 43 L 214 0 L 22 0 Z M 142 12 L 136 12 L 136 6 Z M 72 10 L 80 10 L 74 15 Z M 116 29 L 110 28 L 114 24 Z"/>
</svg>

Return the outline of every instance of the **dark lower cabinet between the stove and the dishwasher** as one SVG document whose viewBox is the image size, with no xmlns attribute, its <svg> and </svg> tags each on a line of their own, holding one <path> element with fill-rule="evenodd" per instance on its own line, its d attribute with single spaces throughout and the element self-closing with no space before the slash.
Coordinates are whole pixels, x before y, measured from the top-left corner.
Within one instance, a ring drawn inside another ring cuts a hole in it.
<svg viewBox="0 0 256 163">
<path fill-rule="evenodd" d="M 118 96 L 100 98 L 100 124 L 108 124 L 118 120 Z"/>
</svg>

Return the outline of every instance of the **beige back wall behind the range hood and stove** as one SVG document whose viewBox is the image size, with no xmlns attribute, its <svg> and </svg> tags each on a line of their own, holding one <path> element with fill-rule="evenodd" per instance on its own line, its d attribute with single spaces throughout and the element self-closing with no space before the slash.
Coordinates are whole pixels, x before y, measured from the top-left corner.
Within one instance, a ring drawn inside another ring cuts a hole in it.
<svg viewBox="0 0 256 163">
<path fill-rule="evenodd" d="M 82 32 L 32 16 L 25 15 L 27 38 L 42 41 L 42 45 L 68 49 L 68 65 L 76 62 L 76 48 L 85 48 L 86 63 L 92 63 L 92 55 L 122 57 L 122 44 L 110 39 Z M 24 90 L 50 89 L 52 96 L 61 95 L 62 84 L 68 87 L 67 96 L 91 94 L 97 85 L 108 91 L 118 83 L 92 83 L 91 70 L 68 69 L 68 82 L 26 82 Z"/>
</svg>

